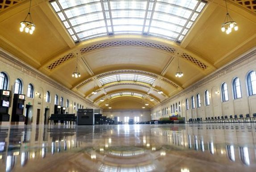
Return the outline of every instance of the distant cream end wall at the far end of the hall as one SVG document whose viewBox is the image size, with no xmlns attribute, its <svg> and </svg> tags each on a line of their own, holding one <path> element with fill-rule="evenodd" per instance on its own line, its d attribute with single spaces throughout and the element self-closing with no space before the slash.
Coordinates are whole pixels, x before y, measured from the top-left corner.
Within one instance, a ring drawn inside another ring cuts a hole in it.
<svg viewBox="0 0 256 172">
<path fill-rule="evenodd" d="M 149 121 L 151 120 L 150 110 L 104 110 L 103 115 L 114 119 L 115 116 L 119 116 L 119 121 L 123 121 L 124 117 L 128 116 L 130 119 L 134 119 L 135 116 L 140 117 L 140 121 Z M 112 116 L 111 116 L 112 115 Z M 142 115 L 142 116 L 141 116 Z"/>
</svg>

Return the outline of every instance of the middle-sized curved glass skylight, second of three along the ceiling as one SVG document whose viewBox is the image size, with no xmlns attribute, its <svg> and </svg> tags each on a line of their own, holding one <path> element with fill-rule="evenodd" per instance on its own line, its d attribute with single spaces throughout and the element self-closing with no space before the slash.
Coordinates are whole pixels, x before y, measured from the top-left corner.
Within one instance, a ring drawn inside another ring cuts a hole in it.
<svg viewBox="0 0 256 172">
<path fill-rule="evenodd" d="M 138 75 L 138 74 L 116 74 L 111 75 L 103 78 L 99 78 L 99 82 L 101 85 L 111 83 L 111 82 L 118 82 L 118 81 L 138 81 L 138 82 L 144 82 L 146 84 L 153 85 L 155 82 L 155 78 L 147 77 L 144 75 Z"/>
</svg>

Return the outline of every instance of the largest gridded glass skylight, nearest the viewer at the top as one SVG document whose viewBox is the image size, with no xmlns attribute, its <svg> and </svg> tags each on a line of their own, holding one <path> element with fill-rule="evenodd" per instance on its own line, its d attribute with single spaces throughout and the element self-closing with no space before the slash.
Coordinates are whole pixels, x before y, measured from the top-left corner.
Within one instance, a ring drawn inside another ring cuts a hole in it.
<svg viewBox="0 0 256 172">
<path fill-rule="evenodd" d="M 206 5 L 203 0 L 51 0 L 75 42 L 142 34 L 181 42 Z"/>
</svg>

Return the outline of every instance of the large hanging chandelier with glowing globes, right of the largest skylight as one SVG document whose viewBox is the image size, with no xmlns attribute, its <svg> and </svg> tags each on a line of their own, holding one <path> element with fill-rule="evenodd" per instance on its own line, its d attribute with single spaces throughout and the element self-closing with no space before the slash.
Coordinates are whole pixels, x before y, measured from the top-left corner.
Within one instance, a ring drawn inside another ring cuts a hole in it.
<svg viewBox="0 0 256 172">
<path fill-rule="evenodd" d="M 227 9 L 227 0 L 226 0 L 226 9 Z M 233 21 L 233 19 L 231 18 L 231 16 L 229 15 L 228 11 L 225 17 L 225 20 L 222 24 L 221 27 L 221 31 L 222 32 L 226 32 L 227 34 L 232 32 L 232 29 L 234 29 L 235 31 L 238 30 L 238 26 L 236 24 L 235 21 Z"/>
</svg>

